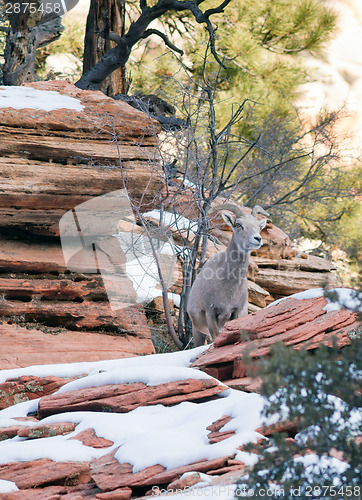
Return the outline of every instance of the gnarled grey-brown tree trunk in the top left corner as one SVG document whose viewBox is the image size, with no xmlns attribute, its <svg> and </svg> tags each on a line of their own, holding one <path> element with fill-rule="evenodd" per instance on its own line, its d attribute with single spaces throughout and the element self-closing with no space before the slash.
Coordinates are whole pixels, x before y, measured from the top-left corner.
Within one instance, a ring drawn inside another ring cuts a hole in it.
<svg viewBox="0 0 362 500">
<path fill-rule="evenodd" d="M 39 6 L 40 0 L 34 3 Z M 5 85 L 21 85 L 34 81 L 36 49 L 59 38 L 64 30 L 59 15 L 50 14 L 39 18 L 39 12 L 31 13 L 26 9 L 10 15 L 10 28 L 4 53 Z"/>
</svg>

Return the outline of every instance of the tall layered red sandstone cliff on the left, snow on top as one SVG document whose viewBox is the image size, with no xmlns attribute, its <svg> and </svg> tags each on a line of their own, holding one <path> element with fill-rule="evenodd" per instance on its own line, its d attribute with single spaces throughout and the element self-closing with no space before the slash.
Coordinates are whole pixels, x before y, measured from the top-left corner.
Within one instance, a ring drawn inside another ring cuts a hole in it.
<svg viewBox="0 0 362 500">
<path fill-rule="evenodd" d="M 159 125 L 67 82 L 14 89 L 17 102 L 7 91 L 0 108 L 0 368 L 78 360 L 80 351 L 84 361 L 151 353 L 143 309 L 113 311 L 99 274 L 67 267 L 59 220 L 125 186 L 141 209 L 153 208 L 162 187 Z M 110 272 L 124 264 L 99 251 Z M 134 294 L 125 277 L 127 290 Z"/>
</svg>

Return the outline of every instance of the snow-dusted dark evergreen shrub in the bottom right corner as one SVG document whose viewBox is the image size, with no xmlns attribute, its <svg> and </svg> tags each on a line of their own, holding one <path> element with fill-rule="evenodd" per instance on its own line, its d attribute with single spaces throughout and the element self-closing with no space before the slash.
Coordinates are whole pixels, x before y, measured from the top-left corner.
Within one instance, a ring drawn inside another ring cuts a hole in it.
<svg viewBox="0 0 362 500">
<path fill-rule="evenodd" d="M 283 498 L 293 498 L 293 490 L 299 498 L 359 497 L 361 333 L 359 328 L 351 334 L 351 344 L 343 349 L 322 346 L 310 353 L 279 345 L 260 364 L 264 415 L 295 421 L 299 432 L 295 440 L 278 433 L 256 448 L 250 446 L 261 459 L 243 485 L 256 498 L 260 488 L 272 484 L 283 490 Z M 318 465 L 308 468 L 297 457 L 308 459 L 310 454 L 317 456 Z M 337 459 L 348 464 L 344 471 Z"/>
</svg>

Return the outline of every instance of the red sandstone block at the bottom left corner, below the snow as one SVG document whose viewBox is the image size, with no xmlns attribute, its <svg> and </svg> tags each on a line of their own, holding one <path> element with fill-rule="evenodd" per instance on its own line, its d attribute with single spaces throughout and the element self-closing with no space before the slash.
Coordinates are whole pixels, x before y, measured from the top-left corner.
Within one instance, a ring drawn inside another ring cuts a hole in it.
<svg viewBox="0 0 362 500">
<path fill-rule="evenodd" d="M 48 458 L 30 462 L 0 465 L 0 479 L 13 481 L 19 489 L 34 488 L 42 484 L 87 483 L 90 479 L 88 462 L 54 462 Z"/>
</svg>

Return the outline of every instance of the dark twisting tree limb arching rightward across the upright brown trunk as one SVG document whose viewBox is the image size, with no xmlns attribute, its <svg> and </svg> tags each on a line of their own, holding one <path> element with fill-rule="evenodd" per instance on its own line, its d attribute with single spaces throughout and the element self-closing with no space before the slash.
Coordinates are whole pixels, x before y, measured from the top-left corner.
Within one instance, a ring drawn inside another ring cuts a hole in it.
<svg viewBox="0 0 362 500">
<path fill-rule="evenodd" d="M 219 6 L 208 9 L 203 12 L 199 5 L 204 0 L 158 0 L 155 5 L 149 7 L 147 0 L 140 0 L 141 14 L 136 21 L 132 22 L 128 32 L 124 36 L 114 36 L 106 26 L 102 30 L 102 37 L 116 42 L 116 47 L 108 50 L 101 60 L 88 71 L 84 71 L 82 78 L 76 83 L 81 89 L 98 90 L 105 78 L 113 71 L 120 67 L 124 67 L 127 63 L 134 45 L 141 39 L 147 38 L 154 34 L 162 38 L 164 43 L 175 52 L 182 54 L 181 49 L 176 47 L 167 37 L 165 33 L 159 30 L 148 28 L 152 21 L 159 19 L 166 12 L 175 11 L 190 11 L 195 21 L 199 24 L 205 24 L 209 33 L 210 50 L 216 61 L 224 67 L 222 61 L 216 53 L 215 49 L 215 28 L 213 27 L 210 17 L 214 14 L 219 14 L 224 11 L 225 7 L 231 0 L 224 0 Z M 107 23 L 106 23 L 107 24 Z"/>
</svg>

